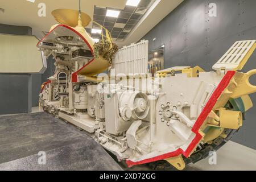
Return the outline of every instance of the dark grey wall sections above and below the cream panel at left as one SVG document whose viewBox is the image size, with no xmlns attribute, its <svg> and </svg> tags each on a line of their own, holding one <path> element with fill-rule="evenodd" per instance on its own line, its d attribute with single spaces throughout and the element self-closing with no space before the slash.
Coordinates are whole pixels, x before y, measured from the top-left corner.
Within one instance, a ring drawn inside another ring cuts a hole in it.
<svg viewBox="0 0 256 182">
<path fill-rule="evenodd" d="M 0 34 L 31 36 L 32 29 L 27 26 L 0 24 Z M 31 107 L 38 106 L 40 87 L 55 70 L 52 58 L 47 60 L 47 67 L 49 69 L 43 74 L 0 73 L 0 114 L 30 113 Z M 10 92 L 6 92 L 6 89 Z M 9 103 L 7 107 L 6 103 Z"/>
</svg>

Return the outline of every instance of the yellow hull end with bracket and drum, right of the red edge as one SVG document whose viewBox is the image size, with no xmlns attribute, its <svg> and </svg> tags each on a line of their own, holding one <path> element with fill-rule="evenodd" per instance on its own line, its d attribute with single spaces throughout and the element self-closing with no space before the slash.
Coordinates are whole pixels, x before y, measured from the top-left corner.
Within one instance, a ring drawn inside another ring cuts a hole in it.
<svg viewBox="0 0 256 182">
<path fill-rule="evenodd" d="M 216 127 L 216 130 L 219 130 L 220 128 L 238 129 L 239 127 L 242 126 L 242 113 L 240 111 L 225 110 L 224 106 L 230 100 L 230 98 L 233 98 L 234 96 L 236 96 L 236 97 L 242 97 L 246 110 L 250 109 L 250 107 L 252 106 L 252 103 L 249 96 L 247 96 L 247 94 L 255 92 L 255 89 L 254 89 L 254 86 L 251 86 L 251 85 L 248 86 L 248 82 L 249 82 L 248 80 L 249 80 L 249 77 L 251 75 L 254 75 L 255 73 L 256 73 L 255 70 L 250 71 L 248 73 L 236 72 L 233 79 L 230 80 L 230 83 L 227 86 L 227 88 L 224 90 L 224 92 L 222 92 L 221 96 L 218 98 L 216 104 L 212 109 L 212 112 L 208 115 L 208 119 L 205 120 L 200 130 L 205 130 L 206 127 L 208 126 Z M 245 87 L 245 89 L 242 89 L 243 87 Z M 217 110 L 219 110 L 219 115 L 220 115 L 219 119 L 216 116 L 217 114 L 215 114 Z M 219 120 L 220 124 L 216 125 L 217 123 L 214 123 L 215 125 L 212 125 L 213 123 L 210 120 L 213 118 L 215 119 L 215 121 Z M 211 133 L 205 134 L 204 142 L 212 143 L 210 139 L 216 137 L 219 134 L 217 133 L 217 131 L 214 131 L 214 132 L 211 131 L 211 132 L 212 134 Z M 220 136 L 222 138 L 226 137 L 224 133 L 221 133 Z"/>
</svg>

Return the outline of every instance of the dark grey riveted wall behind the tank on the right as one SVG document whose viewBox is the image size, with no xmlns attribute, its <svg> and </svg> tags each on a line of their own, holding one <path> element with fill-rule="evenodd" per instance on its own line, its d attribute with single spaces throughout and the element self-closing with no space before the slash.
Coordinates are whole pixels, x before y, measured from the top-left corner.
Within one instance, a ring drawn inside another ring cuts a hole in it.
<svg viewBox="0 0 256 182">
<path fill-rule="evenodd" d="M 209 16 L 209 3 L 216 3 L 217 17 Z M 255 0 L 185 0 L 142 39 L 149 50 L 165 44 L 164 67 L 191 65 L 212 70 L 212 65 L 237 40 L 256 39 Z M 153 39 L 156 38 L 155 41 Z M 243 72 L 256 68 L 256 52 Z M 256 77 L 251 78 L 256 85 Z M 256 94 L 251 95 L 256 105 Z M 256 149 L 255 107 L 246 113 L 234 142 Z"/>
</svg>

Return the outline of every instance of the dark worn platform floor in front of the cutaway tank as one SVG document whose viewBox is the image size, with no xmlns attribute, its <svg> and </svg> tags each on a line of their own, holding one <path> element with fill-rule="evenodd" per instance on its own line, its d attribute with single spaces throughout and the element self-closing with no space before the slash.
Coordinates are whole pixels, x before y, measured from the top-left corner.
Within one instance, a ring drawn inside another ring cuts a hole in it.
<svg viewBox="0 0 256 182">
<path fill-rule="evenodd" d="M 46 154 L 46 164 L 40 158 Z M 48 113 L 0 117 L 0 170 L 122 170 L 93 138 Z"/>
</svg>

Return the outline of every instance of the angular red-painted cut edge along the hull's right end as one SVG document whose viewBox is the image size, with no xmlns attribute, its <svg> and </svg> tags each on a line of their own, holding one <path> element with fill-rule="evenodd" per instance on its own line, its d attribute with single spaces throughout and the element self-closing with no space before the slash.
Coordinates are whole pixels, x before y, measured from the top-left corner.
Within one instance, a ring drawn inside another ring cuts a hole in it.
<svg viewBox="0 0 256 182">
<path fill-rule="evenodd" d="M 212 96 L 210 97 L 209 101 L 205 105 L 204 109 L 201 111 L 199 117 L 197 118 L 195 125 L 192 128 L 193 133 L 196 134 L 196 137 L 192 140 L 192 142 L 189 144 L 187 150 L 183 151 L 181 148 L 178 148 L 176 151 L 169 152 L 167 154 L 159 155 L 154 158 L 141 160 L 138 162 L 133 162 L 131 160 L 126 160 L 126 164 L 128 167 L 132 167 L 139 164 L 144 163 L 150 163 L 155 162 L 158 160 L 173 158 L 176 156 L 179 156 L 180 154 L 183 154 L 186 158 L 189 157 L 191 152 L 195 149 L 197 144 L 200 142 L 200 140 L 203 138 L 203 136 L 199 133 L 200 127 L 203 125 L 205 119 L 207 119 L 210 111 L 213 109 L 213 106 L 216 104 L 218 98 L 221 96 L 221 93 L 224 91 L 224 89 L 229 85 L 229 82 L 231 78 L 235 75 L 235 71 L 228 71 L 226 75 L 222 78 L 220 84 L 218 84 L 217 88 L 214 90 Z"/>
</svg>

